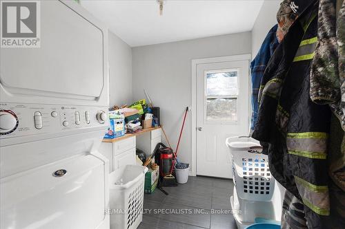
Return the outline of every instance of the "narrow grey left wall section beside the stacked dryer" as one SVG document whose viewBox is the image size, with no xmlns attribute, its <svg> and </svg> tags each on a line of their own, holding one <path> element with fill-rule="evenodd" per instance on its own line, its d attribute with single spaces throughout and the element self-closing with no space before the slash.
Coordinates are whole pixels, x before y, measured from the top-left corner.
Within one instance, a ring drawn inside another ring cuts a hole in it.
<svg viewBox="0 0 345 229">
<path fill-rule="evenodd" d="M 110 107 L 132 102 L 132 48 L 108 31 Z"/>
</svg>

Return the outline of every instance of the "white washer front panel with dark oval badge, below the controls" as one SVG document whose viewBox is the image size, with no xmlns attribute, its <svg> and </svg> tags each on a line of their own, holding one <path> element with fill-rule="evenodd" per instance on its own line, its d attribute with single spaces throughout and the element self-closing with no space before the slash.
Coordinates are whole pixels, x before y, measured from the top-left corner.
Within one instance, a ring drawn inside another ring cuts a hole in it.
<svg viewBox="0 0 345 229">
<path fill-rule="evenodd" d="M 99 158 L 78 155 L 1 179 L 0 228 L 97 228 L 106 174 Z"/>
</svg>

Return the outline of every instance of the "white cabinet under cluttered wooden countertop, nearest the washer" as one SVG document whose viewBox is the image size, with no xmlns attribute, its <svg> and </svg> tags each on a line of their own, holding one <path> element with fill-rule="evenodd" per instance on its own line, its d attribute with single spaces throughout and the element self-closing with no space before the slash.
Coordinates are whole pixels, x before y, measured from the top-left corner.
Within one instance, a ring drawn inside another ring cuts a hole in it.
<svg viewBox="0 0 345 229">
<path fill-rule="evenodd" d="M 135 164 L 135 136 L 117 142 L 102 142 L 99 153 L 109 160 L 109 173 L 120 166 Z"/>
</svg>

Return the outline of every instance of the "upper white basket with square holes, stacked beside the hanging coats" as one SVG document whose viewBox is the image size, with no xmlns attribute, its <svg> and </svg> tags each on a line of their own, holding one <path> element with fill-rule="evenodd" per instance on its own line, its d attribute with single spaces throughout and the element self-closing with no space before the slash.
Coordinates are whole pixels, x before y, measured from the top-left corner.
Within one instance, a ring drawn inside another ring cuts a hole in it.
<svg viewBox="0 0 345 229">
<path fill-rule="evenodd" d="M 275 179 L 270 174 L 268 157 L 261 153 L 262 146 L 248 137 L 228 138 L 234 183 L 241 199 L 270 201 Z"/>
</svg>

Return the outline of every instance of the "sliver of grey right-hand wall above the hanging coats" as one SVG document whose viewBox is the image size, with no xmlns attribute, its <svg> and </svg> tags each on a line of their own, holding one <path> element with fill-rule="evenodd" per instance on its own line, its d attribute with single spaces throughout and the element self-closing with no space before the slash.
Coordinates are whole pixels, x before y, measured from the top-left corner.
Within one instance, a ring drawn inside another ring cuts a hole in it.
<svg viewBox="0 0 345 229">
<path fill-rule="evenodd" d="M 277 24 L 279 0 L 265 0 L 252 30 L 252 57 L 255 58 L 268 31 Z"/>
</svg>

